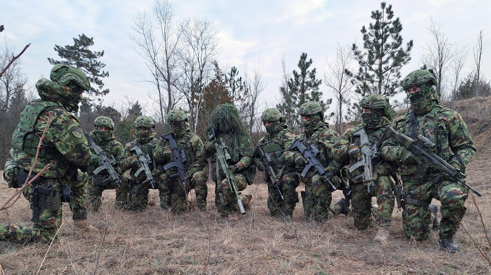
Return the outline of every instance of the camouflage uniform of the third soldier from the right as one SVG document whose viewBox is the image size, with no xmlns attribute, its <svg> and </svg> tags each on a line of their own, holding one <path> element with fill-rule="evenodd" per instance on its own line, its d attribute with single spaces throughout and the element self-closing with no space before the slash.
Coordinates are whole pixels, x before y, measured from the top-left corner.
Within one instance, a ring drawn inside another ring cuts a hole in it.
<svg viewBox="0 0 491 275">
<path fill-rule="evenodd" d="M 317 159 L 324 167 L 332 161 L 331 148 L 339 135 L 334 130 L 329 128 L 329 125 L 324 121 L 319 121 L 316 125 L 309 129 L 304 129 L 303 133 L 298 137 L 299 141 L 305 146 L 313 145 L 319 150 Z M 287 165 L 295 165 L 295 156 L 297 151 L 286 151 L 283 154 L 283 160 Z M 303 167 L 298 167 L 300 172 Z M 328 219 L 332 217 L 332 211 L 329 206 L 332 201 L 330 184 L 325 181 L 324 177 L 316 175 L 313 177 L 314 171 L 311 169 L 302 182 L 305 184 L 305 195 L 307 201 L 313 201 L 313 204 L 304 203 L 303 209 L 307 219 Z M 337 187 L 343 183 L 341 179 L 333 177 L 331 182 Z"/>
</svg>

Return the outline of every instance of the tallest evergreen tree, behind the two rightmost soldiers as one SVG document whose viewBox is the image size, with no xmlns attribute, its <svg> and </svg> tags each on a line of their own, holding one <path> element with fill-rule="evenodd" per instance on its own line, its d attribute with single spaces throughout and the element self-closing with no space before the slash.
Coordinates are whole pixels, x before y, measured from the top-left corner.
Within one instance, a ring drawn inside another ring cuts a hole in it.
<svg viewBox="0 0 491 275">
<path fill-rule="evenodd" d="M 371 18 L 375 22 L 370 23 L 368 30 L 364 25 L 360 30 L 363 35 L 362 48 L 353 43 L 358 72 L 355 74 L 346 70 L 360 97 L 369 93 L 389 97 L 395 95 L 400 85 L 400 70 L 411 59 L 412 40 L 406 48 L 402 46 L 402 24 L 399 18 L 394 19 L 392 5 L 382 2 L 380 7 L 381 10 L 372 11 Z"/>
</svg>

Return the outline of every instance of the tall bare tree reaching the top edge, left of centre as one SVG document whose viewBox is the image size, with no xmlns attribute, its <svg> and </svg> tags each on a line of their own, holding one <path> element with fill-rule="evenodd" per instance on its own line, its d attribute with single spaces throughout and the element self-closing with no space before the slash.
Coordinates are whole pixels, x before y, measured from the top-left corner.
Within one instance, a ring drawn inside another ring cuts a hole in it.
<svg viewBox="0 0 491 275">
<path fill-rule="evenodd" d="M 155 0 L 152 12 L 155 22 L 145 12 L 137 12 L 131 27 L 136 34 L 128 36 L 134 43 L 135 51 L 146 60 L 145 64 L 152 75 L 146 81 L 157 90 L 160 120 L 164 124 L 165 115 L 179 100 L 174 87 L 178 78 L 176 68 L 181 31 L 174 23 L 175 12 L 170 1 Z"/>
</svg>

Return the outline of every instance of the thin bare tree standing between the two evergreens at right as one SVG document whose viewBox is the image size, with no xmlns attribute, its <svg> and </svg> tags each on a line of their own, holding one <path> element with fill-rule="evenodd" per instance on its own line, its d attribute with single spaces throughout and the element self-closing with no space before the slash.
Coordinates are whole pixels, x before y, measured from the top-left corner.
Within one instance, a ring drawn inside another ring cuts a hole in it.
<svg viewBox="0 0 491 275">
<path fill-rule="evenodd" d="M 336 61 L 329 63 L 326 57 L 327 67 L 324 69 L 324 83 L 334 98 L 336 98 L 335 130 L 338 133 L 344 132 L 343 109 L 346 109 L 345 104 L 349 105 L 348 95 L 355 86 L 346 73 L 347 69 L 351 70 L 349 66 L 352 60 L 353 52 L 351 48 L 349 46 L 341 46 L 339 43 L 336 46 Z"/>
</svg>

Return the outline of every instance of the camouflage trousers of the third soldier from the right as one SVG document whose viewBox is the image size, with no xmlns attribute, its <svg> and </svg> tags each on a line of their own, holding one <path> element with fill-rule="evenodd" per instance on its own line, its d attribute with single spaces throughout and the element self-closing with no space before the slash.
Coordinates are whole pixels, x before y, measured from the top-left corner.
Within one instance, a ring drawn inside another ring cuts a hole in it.
<svg viewBox="0 0 491 275">
<path fill-rule="evenodd" d="M 340 206 L 330 206 L 332 202 L 332 186 L 319 174 L 314 175 L 309 180 L 307 178 L 302 179 L 305 184 L 305 200 L 303 201 L 303 211 L 305 219 L 325 219 L 328 220 L 334 216 L 341 214 Z M 332 184 L 336 188 L 343 184 L 342 180 L 336 176 L 331 178 Z"/>
</svg>

